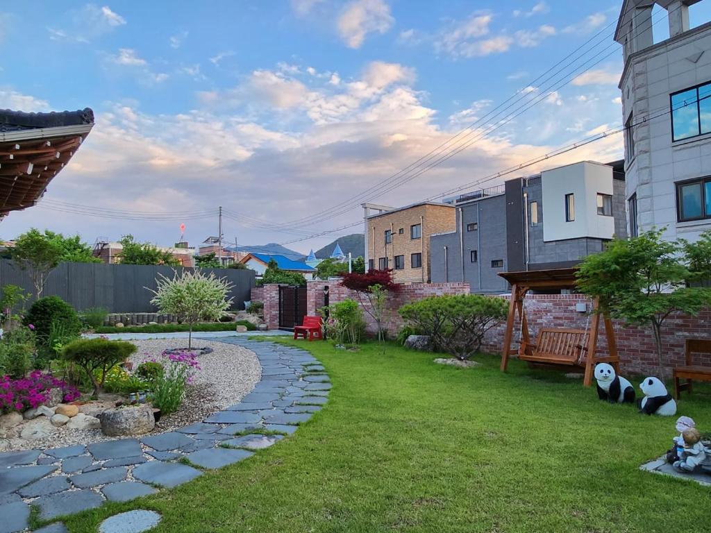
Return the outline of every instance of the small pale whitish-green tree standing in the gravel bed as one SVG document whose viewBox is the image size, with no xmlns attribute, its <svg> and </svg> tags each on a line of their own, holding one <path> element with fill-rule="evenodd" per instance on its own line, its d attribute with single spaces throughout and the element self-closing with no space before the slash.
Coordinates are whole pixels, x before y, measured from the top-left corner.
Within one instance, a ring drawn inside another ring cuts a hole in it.
<svg viewBox="0 0 711 533">
<path fill-rule="evenodd" d="M 151 303 L 161 313 L 178 315 L 188 323 L 188 349 L 192 348 L 193 326 L 201 319 L 218 320 L 232 305 L 227 298 L 232 284 L 224 278 L 217 278 L 213 272 L 203 274 L 185 270 L 170 279 L 162 274 L 156 279 L 158 289 L 149 289 L 155 296 Z"/>
</svg>

